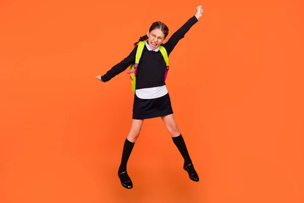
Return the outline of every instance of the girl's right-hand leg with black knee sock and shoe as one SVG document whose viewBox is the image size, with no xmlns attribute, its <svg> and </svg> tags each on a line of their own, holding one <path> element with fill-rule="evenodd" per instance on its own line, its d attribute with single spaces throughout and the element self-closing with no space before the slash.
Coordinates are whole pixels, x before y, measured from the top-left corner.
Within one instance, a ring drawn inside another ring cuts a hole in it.
<svg viewBox="0 0 304 203">
<path fill-rule="evenodd" d="M 178 151 L 180 152 L 180 154 L 184 159 L 184 165 L 183 165 L 184 170 L 188 172 L 189 178 L 191 180 L 198 182 L 199 176 L 194 169 L 186 144 L 177 127 L 173 114 L 163 116 L 162 119 L 168 132 L 171 134 L 175 146 L 177 147 Z"/>
</svg>

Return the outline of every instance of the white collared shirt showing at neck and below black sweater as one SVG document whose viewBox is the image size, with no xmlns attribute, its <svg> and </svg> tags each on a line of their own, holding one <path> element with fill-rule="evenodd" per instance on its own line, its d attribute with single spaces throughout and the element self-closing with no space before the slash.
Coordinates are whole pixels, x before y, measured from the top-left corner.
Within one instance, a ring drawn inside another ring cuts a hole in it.
<svg viewBox="0 0 304 203">
<path fill-rule="evenodd" d="M 157 49 L 152 49 L 149 46 L 148 41 L 145 42 L 145 46 L 147 47 L 147 49 L 149 51 L 158 52 L 160 50 L 159 47 Z M 159 86 L 159 87 L 137 89 L 137 90 L 135 90 L 135 93 L 136 93 L 136 96 L 138 96 L 138 98 L 151 99 L 151 98 L 158 98 L 158 97 L 166 95 L 168 93 L 168 90 L 167 90 L 166 85 L 163 85 L 163 86 Z"/>
</svg>

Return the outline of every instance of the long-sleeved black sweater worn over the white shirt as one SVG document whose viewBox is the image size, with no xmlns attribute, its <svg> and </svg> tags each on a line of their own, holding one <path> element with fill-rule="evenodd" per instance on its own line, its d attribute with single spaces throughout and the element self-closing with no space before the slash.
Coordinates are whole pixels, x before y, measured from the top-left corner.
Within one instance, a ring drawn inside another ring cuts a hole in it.
<svg viewBox="0 0 304 203">
<path fill-rule="evenodd" d="M 170 39 L 162 46 L 166 49 L 168 56 L 176 46 L 176 44 L 184 38 L 186 32 L 196 23 L 198 19 L 193 16 L 185 24 L 183 24 Z M 135 55 L 138 45 L 134 47 L 132 52 L 123 59 L 120 63 L 113 66 L 105 75 L 101 76 L 103 82 L 107 82 L 113 77 L 125 71 L 132 63 L 135 63 Z M 140 57 L 137 74 L 136 74 L 136 87 L 135 89 L 158 87 L 165 85 L 165 70 L 166 62 L 160 51 L 149 51 L 146 46 L 142 51 Z"/>
</svg>

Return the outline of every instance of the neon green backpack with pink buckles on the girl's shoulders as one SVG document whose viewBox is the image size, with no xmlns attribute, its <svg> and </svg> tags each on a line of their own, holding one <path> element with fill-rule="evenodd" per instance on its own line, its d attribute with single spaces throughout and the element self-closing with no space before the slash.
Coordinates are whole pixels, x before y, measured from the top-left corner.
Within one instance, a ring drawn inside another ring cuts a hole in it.
<svg viewBox="0 0 304 203">
<path fill-rule="evenodd" d="M 139 42 L 138 47 L 137 47 L 137 51 L 136 51 L 136 56 L 135 56 L 135 63 L 133 63 L 130 67 L 130 72 L 128 72 L 128 74 L 130 74 L 130 79 L 131 84 L 132 84 L 132 92 L 135 93 L 135 85 L 136 85 L 136 74 L 137 74 L 137 66 L 139 63 L 139 59 L 141 57 L 141 53 L 142 50 L 144 48 L 145 42 Z M 165 47 L 160 46 L 160 52 L 162 53 L 165 61 L 166 61 L 166 72 L 165 72 L 165 81 L 168 75 L 168 71 L 169 71 L 169 59 L 168 59 L 168 54 L 167 51 L 165 49 Z"/>
</svg>

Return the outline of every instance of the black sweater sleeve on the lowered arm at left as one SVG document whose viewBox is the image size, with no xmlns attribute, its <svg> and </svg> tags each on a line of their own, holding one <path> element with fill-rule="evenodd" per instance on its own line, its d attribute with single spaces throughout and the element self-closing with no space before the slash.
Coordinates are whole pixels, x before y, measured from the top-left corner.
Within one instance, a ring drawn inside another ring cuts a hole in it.
<svg viewBox="0 0 304 203">
<path fill-rule="evenodd" d="M 135 63 L 135 55 L 137 51 L 138 45 L 134 47 L 132 52 L 124 58 L 121 62 L 114 65 L 109 71 L 106 72 L 103 76 L 101 76 L 102 82 L 107 82 L 113 77 L 125 71 L 132 63 Z"/>
</svg>

